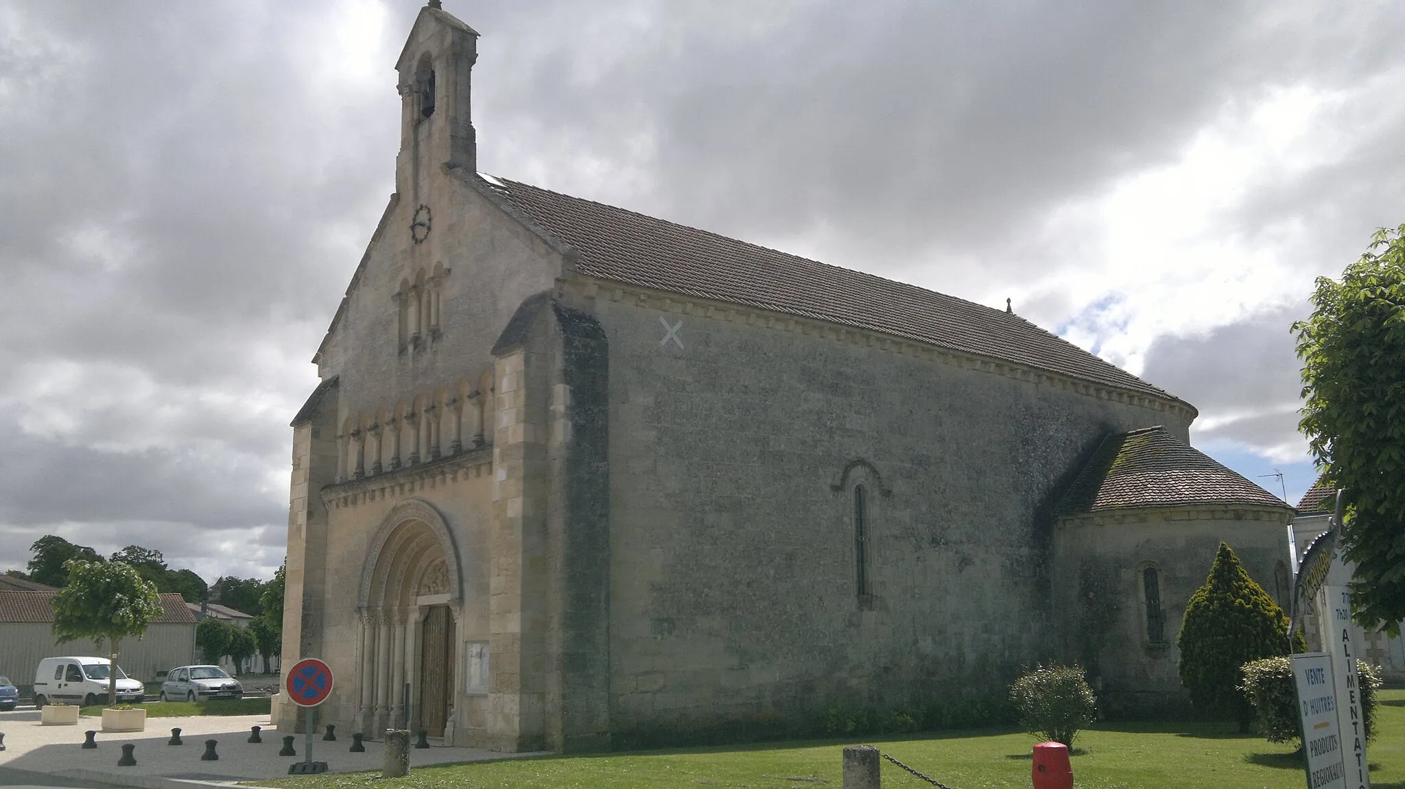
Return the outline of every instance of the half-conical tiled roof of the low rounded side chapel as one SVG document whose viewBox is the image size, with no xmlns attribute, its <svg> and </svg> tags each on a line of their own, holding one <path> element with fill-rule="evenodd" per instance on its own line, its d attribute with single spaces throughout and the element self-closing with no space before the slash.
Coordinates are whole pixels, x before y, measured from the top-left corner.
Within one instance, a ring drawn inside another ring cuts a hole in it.
<svg viewBox="0 0 1405 789">
<path fill-rule="evenodd" d="M 1059 514 L 1196 504 L 1288 504 L 1183 444 L 1165 427 L 1103 439 L 1058 505 Z"/>
</svg>

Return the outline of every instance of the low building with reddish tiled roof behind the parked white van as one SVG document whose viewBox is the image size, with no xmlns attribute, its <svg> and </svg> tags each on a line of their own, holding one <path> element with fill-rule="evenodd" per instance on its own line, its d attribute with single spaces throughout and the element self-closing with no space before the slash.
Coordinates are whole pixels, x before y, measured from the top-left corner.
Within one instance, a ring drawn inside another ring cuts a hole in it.
<svg viewBox="0 0 1405 789">
<path fill-rule="evenodd" d="M 21 695 L 32 689 L 34 670 L 45 657 L 107 654 L 107 646 L 98 650 L 89 640 L 60 644 L 53 639 L 53 595 L 58 591 L 52 587 L 0 590 L 0 674 L 10 677 Z M 195 656 L 195 616 L 178 594 L 160 597 L 162 616 L 142 637 L 122 640 L 117 658 L 129 677 L 143 682 L 159 679 L 167 668 L 191 663 Z"/>
</svg>

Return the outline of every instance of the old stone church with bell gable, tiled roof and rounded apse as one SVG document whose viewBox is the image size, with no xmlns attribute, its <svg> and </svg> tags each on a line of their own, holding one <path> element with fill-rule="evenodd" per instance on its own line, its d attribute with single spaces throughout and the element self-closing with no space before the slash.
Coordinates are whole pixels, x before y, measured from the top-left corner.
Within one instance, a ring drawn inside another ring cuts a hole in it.
<svg viewBox="0 0 1405 789">
<path fill-rule="evenodd" d="M 419 13 L 395 194 L 292 421 L 282 650 L 336 671 L 325 722 L 601 750 L 1050 658 L 1134 709 L 1179 698 L 1221 541 L 1286 599 L 1293 508 L 1166 390 L 1009 309 L 479 173 L 476 39 Z"/>
</svg>

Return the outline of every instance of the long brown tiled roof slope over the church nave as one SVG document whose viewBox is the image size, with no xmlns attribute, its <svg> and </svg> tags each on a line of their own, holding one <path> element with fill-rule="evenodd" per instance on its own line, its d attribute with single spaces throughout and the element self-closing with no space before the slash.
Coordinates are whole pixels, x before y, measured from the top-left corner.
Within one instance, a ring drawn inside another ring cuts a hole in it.
<svg viewBox="0 0 1405 789">
<path fill-rule="evenodd" d="M 485 184 L 575 247 L 577 268 L 592 277 L 881 331 L 1175 400 L 1005 310 L 517 181 L 489 175 Z"/>
</svg>

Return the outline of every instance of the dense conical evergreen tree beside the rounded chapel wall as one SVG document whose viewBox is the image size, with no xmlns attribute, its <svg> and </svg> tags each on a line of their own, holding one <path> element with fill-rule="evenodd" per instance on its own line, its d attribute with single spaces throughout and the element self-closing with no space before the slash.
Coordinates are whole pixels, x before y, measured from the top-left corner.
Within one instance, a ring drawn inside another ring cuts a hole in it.
<svg viewBox="0 0 1405 789">
<path fill-rule="evenodd" d="M 1307 651 L 1301 635 L 1297 642 L 1300 651 Z M 1235 720 L 1241 731 L 1248 731 L 1253 706 L 1238 687 L 1239 667 L 1288 654 L 1288 616 L 1221 542 L 1205 585 L 1186 604 L 1176 646 L 1180 684 L 1190 692 L 1190 703 L 1208 717 Z"/>
</svg>

